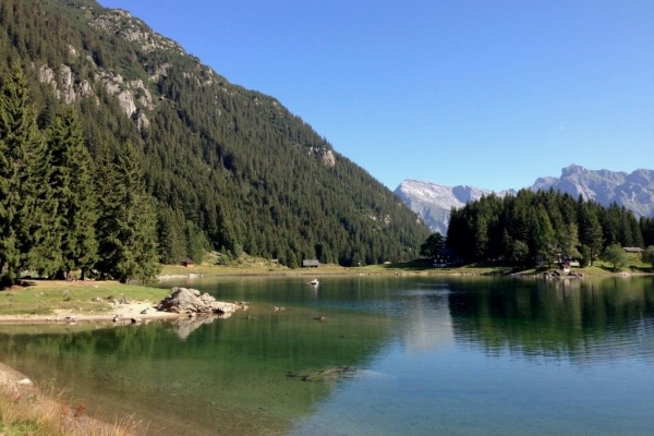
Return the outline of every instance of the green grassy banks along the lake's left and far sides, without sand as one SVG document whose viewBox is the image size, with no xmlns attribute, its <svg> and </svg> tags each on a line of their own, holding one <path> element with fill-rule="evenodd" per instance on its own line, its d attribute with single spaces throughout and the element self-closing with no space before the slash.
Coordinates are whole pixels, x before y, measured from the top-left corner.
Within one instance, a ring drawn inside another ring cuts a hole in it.
<svg viewBox="0 0 654 436">
<path fill-rule="evenodd" d="M 193 268 L 180 265 L 165 265 L 162 277 L 189 275 L 203 276 L 327 276 L 327 275 L 429 275 L 429 276 L 497 276 L 508 274 L 538 275 L 553 268 L 516 269 L 501 264 L 471 264 L 456 268 L 435 268 L 429 259 L 408 263 L 342 267 L 320 265 L 318 268 L 287 268 L 270 262 L 241 256 L 225 259 L 213 256 Z M 643 264 L 638 256 L 631 256 L 626 267 L 614 270 L 613 265 L 597 261 L 592 267 L 572 268 L 588 277 L 603 277 L 615 274 L 651 274 L 651 265 Z M 109 301 L 158 302 L 166 296 L 166 289 L 148 288 L 140 284 L 121 284 L 116 281 L 50 281 L 24 280 L 22 286 L 0 291 L 0 315 L 53 315 L 58 311 L 74 311 L 84 314 L 107 314 L 112 311 Z"/>
</svg>

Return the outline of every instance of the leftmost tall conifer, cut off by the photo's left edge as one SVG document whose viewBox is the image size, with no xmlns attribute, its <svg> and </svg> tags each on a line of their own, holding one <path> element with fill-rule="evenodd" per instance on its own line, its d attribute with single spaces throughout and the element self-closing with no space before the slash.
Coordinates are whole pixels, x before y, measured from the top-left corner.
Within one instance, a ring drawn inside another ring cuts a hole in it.
<svg viewBox="0 0 654 436">
<path fill-rule="evenodd" d="M 60 255 L 49 232 L 57 202 L 47 183 L 45 142 L 27 80 L 14 65 L 0 89 L 0 269 L 13 281 L 24 269 L 51 274 Z"/>
</svg>

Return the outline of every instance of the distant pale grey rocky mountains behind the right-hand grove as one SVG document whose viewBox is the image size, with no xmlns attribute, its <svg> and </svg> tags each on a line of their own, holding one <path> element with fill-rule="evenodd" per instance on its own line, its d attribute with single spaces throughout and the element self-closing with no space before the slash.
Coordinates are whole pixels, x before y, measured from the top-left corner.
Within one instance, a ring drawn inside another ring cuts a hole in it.
<svg viewBox="0 0 654 436">
<path fill-rule="evenodd" d="M 632 210 L 637 218 L 654 216 L 654 170 L 639 169 L 631 173 L 609 170 L 589 170 L 579 165 L 570 165 L 561 170 L 560 177 L 542 177 L 528 189 L 549 190 L 579 195 L 603 206 L 617 203 Z M 517 190 L 496 193 L 504 196 Z M 447 234 L 450 210 L 474 202 L 491 190 L 459 185 L 445 186 L 436 183 L 404 180 L 395 193 L 415 211 L 432 231 Z"/>
</svg>

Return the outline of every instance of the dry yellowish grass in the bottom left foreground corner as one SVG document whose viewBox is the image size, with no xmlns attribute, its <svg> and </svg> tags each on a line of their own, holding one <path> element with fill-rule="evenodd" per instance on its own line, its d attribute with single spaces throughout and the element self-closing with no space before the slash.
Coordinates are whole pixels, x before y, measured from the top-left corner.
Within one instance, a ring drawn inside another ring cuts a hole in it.
<svg viewBox="0 0 654 436">
<path fill-rule="evenodd" d="M 55 392 L 0 385 L 0 436 L 136 436 L 147 426 L 134 415 L 123 415 L 112 424 L 88 417 L 87 404 L 71 402 L 66 390 Z"/>
</svg>

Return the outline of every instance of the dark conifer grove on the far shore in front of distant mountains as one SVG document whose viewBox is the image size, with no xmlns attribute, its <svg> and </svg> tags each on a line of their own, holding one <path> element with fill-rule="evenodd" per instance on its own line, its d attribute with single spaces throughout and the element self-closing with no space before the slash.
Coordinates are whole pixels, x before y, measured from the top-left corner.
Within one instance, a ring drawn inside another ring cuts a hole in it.
<svg viewBox="0 0 654 436">
<path fill-rule="evenodd" d="M 616 204 L 609 207 L 559 192 L 521 190 L 517 195 L 484 196 L 455 208 L 446 246 L 468 262 L 504 259 L 517 265 L 559 255 L 592 264 L 611 245 L 654 245 L 654 218 L 637 220 Z"/>
</svg>

